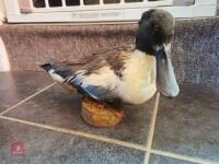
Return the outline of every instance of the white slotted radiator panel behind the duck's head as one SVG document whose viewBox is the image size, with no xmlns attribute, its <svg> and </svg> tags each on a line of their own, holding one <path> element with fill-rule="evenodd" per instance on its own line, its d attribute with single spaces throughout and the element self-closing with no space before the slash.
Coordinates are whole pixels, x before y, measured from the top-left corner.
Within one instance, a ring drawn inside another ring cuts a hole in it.
<svg viewBox="0 0 219 164">
<path fill-rule="evenodd" d="M 217 0 L 4 0 L 9 23 L 137 22 L 149 9 L 175 17 L 215 16 Z"/>
</svg>

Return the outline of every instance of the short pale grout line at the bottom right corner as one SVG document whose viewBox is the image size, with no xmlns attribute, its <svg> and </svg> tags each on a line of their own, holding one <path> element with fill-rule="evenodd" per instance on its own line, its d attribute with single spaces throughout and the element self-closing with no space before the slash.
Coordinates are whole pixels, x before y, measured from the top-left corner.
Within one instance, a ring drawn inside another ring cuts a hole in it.
<svg viewBox="0 0 219 164">
<path fill-rule="evenodd" d="M 197 163 L 197 164 L 217 164 L 216 162 L 212 162 L 212 161 L 207 161 L 207 160 L 203 160 L 203 159 L 198 159 L 198 157 L 185 156 L 185 155 L 175 154 L 175 153 L 161 151 L 161 150 L 151 149 L 150 152 L 155 155 L 182 160 L 182 161 Z"/>
</svg>

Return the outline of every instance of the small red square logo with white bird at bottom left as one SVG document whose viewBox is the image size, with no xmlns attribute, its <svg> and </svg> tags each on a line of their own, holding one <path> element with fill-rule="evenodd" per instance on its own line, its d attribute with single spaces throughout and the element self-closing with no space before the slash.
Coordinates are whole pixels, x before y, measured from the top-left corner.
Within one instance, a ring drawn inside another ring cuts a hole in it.
<svg viewBox="0 0 219 164">
<path fill-rule="evenodd" d="M 14 141 L 10 145 L 11 156 L 24 156 L 25 145 L 23 141 Z"/>
</svg>

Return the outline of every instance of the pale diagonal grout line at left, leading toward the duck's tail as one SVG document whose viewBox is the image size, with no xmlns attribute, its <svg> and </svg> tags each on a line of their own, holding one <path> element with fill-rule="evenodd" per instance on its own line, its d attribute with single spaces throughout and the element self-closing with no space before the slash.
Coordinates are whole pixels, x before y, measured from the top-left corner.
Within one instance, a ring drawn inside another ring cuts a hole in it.
<svg viewBox="0 0 219 164">
<path fill-rule="evenodd" d="M 33 98 L 34 96 L 36 96 L 36 95 L 41 94 L 42 92 L 48 90 L 48 89 L 51 87 L 54 84 L 56 84 L 56 82 L 54 82 L 54 83 L 49 84 L 48 86 L 46 86 L 46 87 L 39 90 L 38 92 L 35 92 L 34 94 L 32 94 L 32 95 L 27 96 L 26 98 L 20 101 L 19 103 L 16 103 L 15 105 L 9 107 L 8 109 L 4 109 L 2 113 L 0 113 L 0 116 L 2 116 L 2 115 L 4 115 L 4 114 L 9 113 L 9 112 L 12 110 L 13 108 L 20 106 L 21 104 L 27 102 L 28 99 Z"/>
</svg>

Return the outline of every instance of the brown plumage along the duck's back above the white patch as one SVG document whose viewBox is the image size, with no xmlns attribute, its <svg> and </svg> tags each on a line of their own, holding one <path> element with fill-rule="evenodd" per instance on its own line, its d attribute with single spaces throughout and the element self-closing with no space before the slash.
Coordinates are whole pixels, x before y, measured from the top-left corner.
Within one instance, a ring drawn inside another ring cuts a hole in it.
<svg viewBox="0 0 219 164">
<path fill-rule="evenodd" d="M 120 71 L 124 69 L 125 61 L 129 57 L 127 54 L 134 50 L 135 45 L 125 45 L 92 51 L 89 56 L 77 61 L 50 61 L 50 63 L 59 70 L 71 74 L 78 70 L 87 70 L 87 74 L 99 73 L 101 68 L 110 67 L 116 75 L 122 78 Z"/>
</svg>

